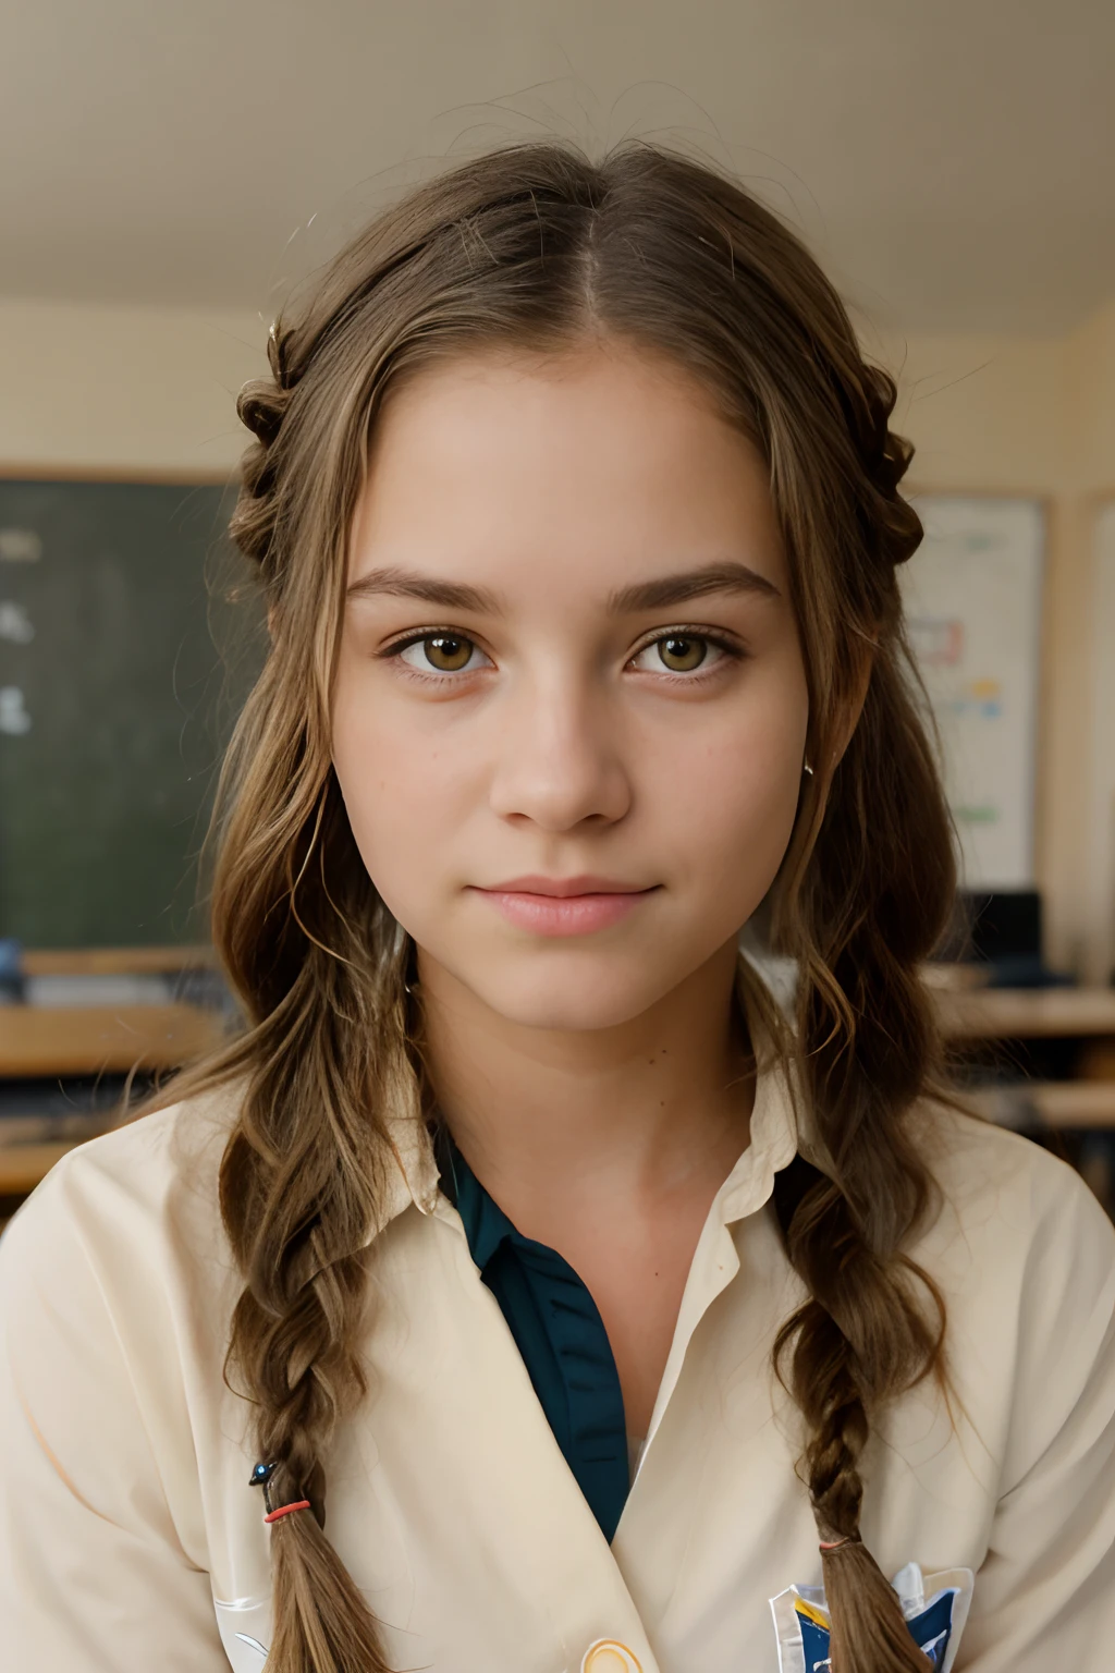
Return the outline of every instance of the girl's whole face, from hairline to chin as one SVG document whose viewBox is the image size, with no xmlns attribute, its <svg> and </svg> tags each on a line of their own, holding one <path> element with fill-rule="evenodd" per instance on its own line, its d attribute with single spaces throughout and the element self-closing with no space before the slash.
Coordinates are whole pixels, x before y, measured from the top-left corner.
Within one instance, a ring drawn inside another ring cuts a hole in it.
<svg viewBox="0 0 1115 1673">
<path fill-rule="evenodd" d="M 423 979 L 533 1027 L 640 1016 L 771 887 L 806 721 L 766 467 L 684 370 L 486 353 L 391 397 L 333 760 Z"/>
</svg>

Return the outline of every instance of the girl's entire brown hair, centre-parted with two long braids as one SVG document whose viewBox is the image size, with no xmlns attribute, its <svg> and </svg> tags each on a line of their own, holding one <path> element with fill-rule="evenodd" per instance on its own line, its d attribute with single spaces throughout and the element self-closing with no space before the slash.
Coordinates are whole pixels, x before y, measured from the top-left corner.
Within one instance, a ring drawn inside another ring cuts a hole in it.
<svg viewBox="0 0 1115 1673">
<path fill-rule="evenodd" d="M 761 448 L 789 555 L 809 679 L 809 760 L 772 890 L 797 960 L 796 1026 L 751 999 L 794 1057 L 814 1143 L 776 1208 L 806 1302 L 774 1362 L 807 1429 L 799 1466 L 821 1537 L 836 1673 L 928 1668 L 859 1539 L 869 1422 L 943 1374 L 944 1312 L 904 1253 L 931 1205 L 908 1131 L 939 1084 L 918 965 L 953 902 L 948 810 L 919 721 L 896 565 L 921 525 L 898 492 L 911 447 L 836 291 L 734 181 L 629 142 L 600 162 L 517 144 L 413 189 L 271 331 L 272 376 L 239 402 L 254 432 L 232 534 L 272 624 L 219 798 L 214 939 L 247 1029 L 187 1086 L 237 1076 L 221 1210 L 244 1290 L 229 1369 L 257 1402 L 274 1502 L 274 1673 L 378 1673 L 376 1624 L 329 1544 L 326 1461 L 364 1392 L 366 1245 L 384 1123 L 421 1116 L 408 939 L 356 852 L 329 760 L 348 530 L 384 393 L 438 356 L 562 351 L 610 335 L 689 368 Z M 863 713 L 851 739 L 869 659 Z M 181 1087 L 182 1082 L 179 1082 Z"/>
</svg>

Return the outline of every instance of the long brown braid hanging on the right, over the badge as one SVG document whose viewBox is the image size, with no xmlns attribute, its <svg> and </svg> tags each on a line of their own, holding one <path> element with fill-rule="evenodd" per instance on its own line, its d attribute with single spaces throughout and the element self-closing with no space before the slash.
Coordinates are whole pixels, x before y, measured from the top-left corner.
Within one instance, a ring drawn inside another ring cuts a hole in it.
<svg viewBox="0 0 1115 1673">
<path fill-rule="evenodd" d="M 858 793 L 864 781 L 869 808 Z M 944 1380 L 944 1302 L 904 1253 L 934 1200 L 908 1123 L 941 1057 L 919 980 L 953 898 L 948 810 L 934 785 L 896 644 L 884 642 L 846 756 L 814 791 L 827 788 L 814 810 L 814 853 L 782 902 L 782 935 L 799 957 L 799 1062 L 817 1154 L 816 1164 L 797 1158 L 777 1183 L 787 1255 L 809 1298 L 779 1332 L 774 1360 L 809 1430 L 802 1474 L 834 1673 L 929 1666 L 859 1517 L 873 1419 L 923 1377 Z M 924 848 L 913 872 L 904 843 L 918 818 Z"/>
</svg>

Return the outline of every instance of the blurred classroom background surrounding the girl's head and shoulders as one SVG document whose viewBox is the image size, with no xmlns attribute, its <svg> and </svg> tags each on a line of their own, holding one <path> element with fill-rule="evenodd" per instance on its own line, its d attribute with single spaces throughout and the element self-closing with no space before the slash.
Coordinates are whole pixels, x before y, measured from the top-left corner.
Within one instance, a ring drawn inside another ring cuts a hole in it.
<svg viewBox="0 0 1115 1673">
<path fill-rule="evenodd" d="M 644 136 L 809 243 L 926 542 L 956 1072 L 1115 1205 L 1115 8 L 3 0 L 0 1220 L 217 1039 L 197 857 L 261 656 L 222 535 L 291 288 L 517 137 Z"/>
</svg>

